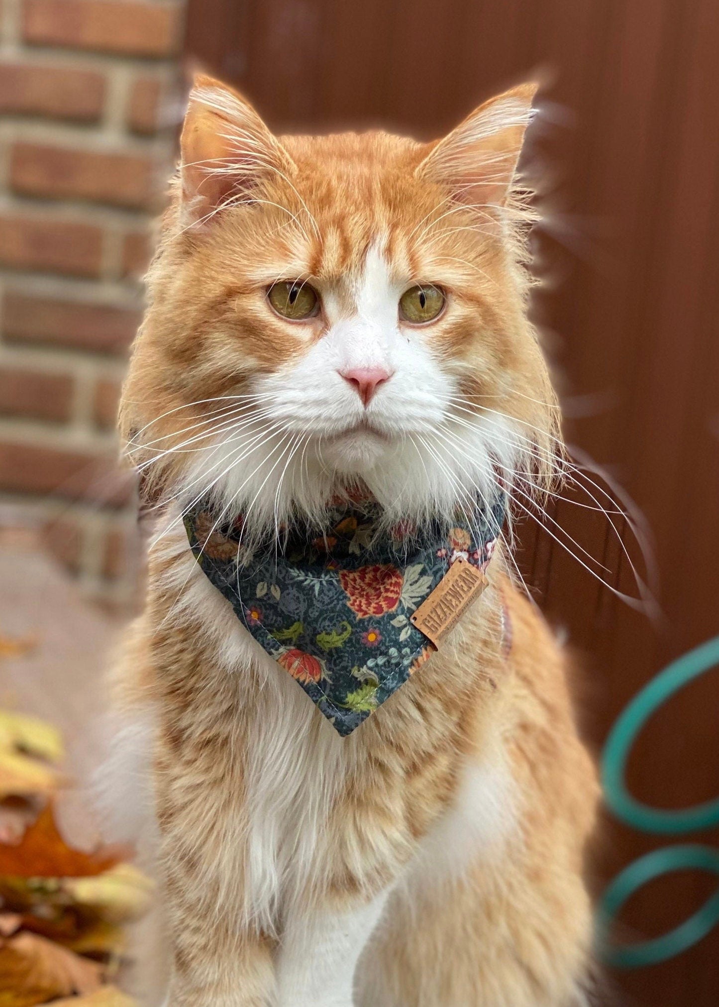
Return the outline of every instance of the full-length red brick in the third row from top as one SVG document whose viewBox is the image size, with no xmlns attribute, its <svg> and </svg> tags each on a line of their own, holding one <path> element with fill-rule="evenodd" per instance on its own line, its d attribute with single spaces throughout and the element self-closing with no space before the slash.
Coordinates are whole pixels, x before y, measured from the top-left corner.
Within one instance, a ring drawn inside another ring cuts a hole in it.
<svg viewBox="0 0 719 1007">
<path fill-rule="evenodd" d="M 16 143 L 10 154 L 10 185 L 24 195 L 141 207 L 150 201 L 152 167 L 149 157 L 133 154 Z"/>
</svg>

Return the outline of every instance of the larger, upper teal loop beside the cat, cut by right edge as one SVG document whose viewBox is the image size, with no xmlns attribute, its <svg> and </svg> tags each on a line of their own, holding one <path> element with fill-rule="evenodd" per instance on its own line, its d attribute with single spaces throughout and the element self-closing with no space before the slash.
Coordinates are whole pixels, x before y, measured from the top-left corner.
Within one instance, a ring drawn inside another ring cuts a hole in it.
<svg viewBox="0 0 719 1007">
<path fill-rule="evenodd" d="M 659 835 L 683 835 L 719 825 L 719 799 L 680 811 L 665 811 L 636 801 L 624 780 L 631 746 L 652 714 L 715 665 L 719 665 L 719 636 L 669 665 L 634 697 L 611 729 L 602 758 L 602 783 L 607 804 L 627 825 Z"/>
</svg>

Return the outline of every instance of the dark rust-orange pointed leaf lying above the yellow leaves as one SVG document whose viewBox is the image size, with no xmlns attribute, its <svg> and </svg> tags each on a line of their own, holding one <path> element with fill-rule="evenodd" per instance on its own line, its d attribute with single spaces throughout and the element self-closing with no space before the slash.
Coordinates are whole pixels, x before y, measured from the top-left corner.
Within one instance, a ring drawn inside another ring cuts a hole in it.
<svg viewBox="0 0 719 1007">
<path fill-rule="evenodd" d="M 93 853 L 71 849 L 57 831 L 52 808 L 47 805 L 20 843 L 16 846 L 0 845 L 0 875 L 21 878 L 92 877 L 114 867 L 124 852 L 112 847 Z"/>
</svg>

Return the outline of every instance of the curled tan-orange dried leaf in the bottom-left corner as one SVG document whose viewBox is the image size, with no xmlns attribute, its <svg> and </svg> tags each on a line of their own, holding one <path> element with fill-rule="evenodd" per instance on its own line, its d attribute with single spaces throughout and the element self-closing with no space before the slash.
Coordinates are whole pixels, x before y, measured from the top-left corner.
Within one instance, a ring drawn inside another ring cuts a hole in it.
<svg viewBox="0 0 719 1007">
<path fill-rule="evenodd" d="M 0 1007 L 32 1007 L 100 988 L 102 966 L 36 933 L 0 946 Z"/>
</svg>

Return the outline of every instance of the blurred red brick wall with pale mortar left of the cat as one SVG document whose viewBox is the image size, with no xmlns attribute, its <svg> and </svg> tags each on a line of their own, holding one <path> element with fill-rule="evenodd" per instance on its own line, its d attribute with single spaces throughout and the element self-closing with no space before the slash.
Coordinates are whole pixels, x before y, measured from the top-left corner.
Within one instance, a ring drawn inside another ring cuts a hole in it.
<svg viewBox="0 0 719 1007">
<path fill-rule="evenodd" d="M 0 521 L 133 593 L 115 412 L 179 113 L 183 0 L 0 0 Z"/>
</svg>

